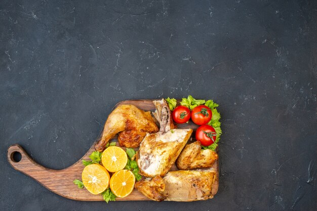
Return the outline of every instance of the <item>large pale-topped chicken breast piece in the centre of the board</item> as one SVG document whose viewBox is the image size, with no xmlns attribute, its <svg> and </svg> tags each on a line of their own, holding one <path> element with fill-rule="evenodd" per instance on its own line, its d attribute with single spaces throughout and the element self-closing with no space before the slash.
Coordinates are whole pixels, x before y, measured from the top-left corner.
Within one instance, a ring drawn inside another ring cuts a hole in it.
<svg viewBox="0 0 317 211">
<path fill-rule="evenodd" d="M 137 153 L 140 174 L 164 176 L 176 161 L 192 133 L 192 129 L 174 129 L 167 133 L 147 134 Z"/>
</svg>

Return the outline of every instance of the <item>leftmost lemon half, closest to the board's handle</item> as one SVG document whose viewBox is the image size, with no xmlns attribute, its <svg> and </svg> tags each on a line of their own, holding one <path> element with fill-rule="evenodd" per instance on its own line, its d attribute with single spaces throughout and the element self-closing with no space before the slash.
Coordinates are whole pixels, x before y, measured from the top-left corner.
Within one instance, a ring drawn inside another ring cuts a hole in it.
<svg viewBox="0 0 317 211">
<path fill-rule="evenodd" d="M 83 170 L 82 179 L 89 192 L 99 194 L 108 188 L 110 175 L 103 166 L 91 164 Z"/>
</svg>

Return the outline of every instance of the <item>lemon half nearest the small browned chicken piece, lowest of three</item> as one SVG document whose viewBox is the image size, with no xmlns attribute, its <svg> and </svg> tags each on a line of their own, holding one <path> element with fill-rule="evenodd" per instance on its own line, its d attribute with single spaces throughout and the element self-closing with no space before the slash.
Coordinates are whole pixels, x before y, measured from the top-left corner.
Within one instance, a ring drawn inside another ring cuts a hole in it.
<svg viewBox="0 0 317 211">
<path fill-rule="evenodd" d="M 128 196 L 134 188 L 135 176 L 129 170 L 120 170 L 110 179 L 110 189 L 114 195 L 123 198 Z"/>
</svg>

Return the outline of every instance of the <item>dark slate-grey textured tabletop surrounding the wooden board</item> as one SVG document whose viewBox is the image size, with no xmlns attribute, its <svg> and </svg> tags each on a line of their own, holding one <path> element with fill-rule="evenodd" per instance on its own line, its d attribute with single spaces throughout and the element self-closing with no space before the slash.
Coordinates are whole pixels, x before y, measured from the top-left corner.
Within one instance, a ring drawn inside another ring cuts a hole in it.
<svg viewBox="0 0 317 211">
<path fill-rule="evenodd" d="M 1 1 L 1 210 L 316 210 L 316 1 Z M 118 101 L 213 98 L 220 185 L 208 201 L 80 202 L 15 171 L 63 169 Z"/>
</svg>

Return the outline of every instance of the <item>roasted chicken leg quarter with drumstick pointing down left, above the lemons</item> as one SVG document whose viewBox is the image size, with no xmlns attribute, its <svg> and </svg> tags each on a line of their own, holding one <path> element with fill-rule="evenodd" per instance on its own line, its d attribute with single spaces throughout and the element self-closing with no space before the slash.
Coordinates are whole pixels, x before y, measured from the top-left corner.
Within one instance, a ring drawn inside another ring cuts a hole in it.
<svg viewBox="0 0 317 211">
<path fill-rule="evenodd" d="M 157 131 L 159 128 L 150 112 L 144 112 L 134 105 L 119 105 L 109 115 L 95 149 L 103 151 L 107 142 L 117 133 L 120 146 L 135 148 L 140 145 L 146 133 Z"/>
</svg>

